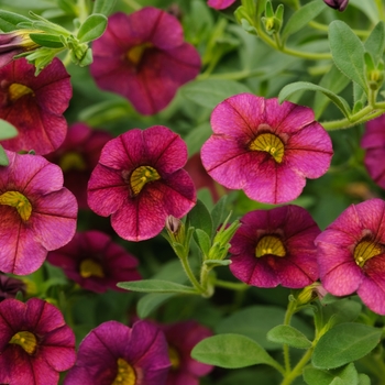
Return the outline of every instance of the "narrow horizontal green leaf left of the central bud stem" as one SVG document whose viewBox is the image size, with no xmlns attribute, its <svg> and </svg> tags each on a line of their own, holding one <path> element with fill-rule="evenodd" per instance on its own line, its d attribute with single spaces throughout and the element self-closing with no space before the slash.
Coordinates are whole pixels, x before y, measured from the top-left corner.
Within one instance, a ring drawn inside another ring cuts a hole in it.
<svg viewBox="0 0 385 385">
<path fill-rule="evenodd" d="M 142 292 L 142 293 L 180 293 L 180 294 L 197 294 L 191 286 L 176 284 L 175 282 L 162 279 L 142 279 L 131 282 L 120 282 L 118 287 L 125 290 Z"/>
</svg>

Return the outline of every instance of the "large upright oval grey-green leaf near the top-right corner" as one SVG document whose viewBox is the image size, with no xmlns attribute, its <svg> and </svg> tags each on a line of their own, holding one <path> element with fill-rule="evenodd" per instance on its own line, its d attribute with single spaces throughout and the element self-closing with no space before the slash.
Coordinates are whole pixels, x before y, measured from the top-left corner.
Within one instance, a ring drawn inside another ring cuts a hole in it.
<svg viewBox="0 0 385 385">
<path fill-rule="evenodd" d="M 350 26 L 334 20 L 329 25 L 330 50 L 336 66 L 350 79 L 367 90 L 364 68 L 364 46 Z"/>
</svg>

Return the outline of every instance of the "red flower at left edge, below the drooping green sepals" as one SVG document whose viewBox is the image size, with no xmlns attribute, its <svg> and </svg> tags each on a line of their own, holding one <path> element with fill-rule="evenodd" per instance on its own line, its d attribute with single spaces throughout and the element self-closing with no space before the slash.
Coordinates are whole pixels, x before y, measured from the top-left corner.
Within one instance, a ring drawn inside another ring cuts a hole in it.
<svg viewBox="0 0 385 385">
<path fill-rule="evenodd" d="M 69 75 L 58 58 L 38 76 L 25 58 L 0 68 L 0 119 L 12 123 L 19 135 L 1 141 L 11 151 L 33 150 L 38 155 L 55 151 L 67 133 L 63 112 L 73 90 Z"/>
</svg>

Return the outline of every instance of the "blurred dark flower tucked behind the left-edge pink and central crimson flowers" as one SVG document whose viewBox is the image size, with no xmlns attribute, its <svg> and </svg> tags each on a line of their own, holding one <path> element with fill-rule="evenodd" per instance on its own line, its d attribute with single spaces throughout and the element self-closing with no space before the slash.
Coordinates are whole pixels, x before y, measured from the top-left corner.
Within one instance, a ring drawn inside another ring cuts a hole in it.
<svg viewBox="0 0 385 385">
<path fill-rule="evenodd" d="M 46 158 L 58 164 L 64 174 L 64 186 L 77 198 L 79 208 L 88 209 L 87 184 L 98 164 L 101 148 L 112 139 L 103 130 L 92 130 L 84 123 L 75 123 L 68 129 L 62 146 Z"/>
</svg>

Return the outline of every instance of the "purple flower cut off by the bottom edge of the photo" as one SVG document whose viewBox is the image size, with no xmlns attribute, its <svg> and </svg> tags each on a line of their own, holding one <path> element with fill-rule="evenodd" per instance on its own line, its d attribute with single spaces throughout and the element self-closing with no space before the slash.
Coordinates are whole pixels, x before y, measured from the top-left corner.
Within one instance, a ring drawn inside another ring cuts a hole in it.
<svg viewBox="0 0 385 385">
<path fill-rule="evenodd" d="M 169 365 L 167 342 L 155 324 L 108 321 L 81 341 L 64 385 L 163 385 Z"/>
</svg>

